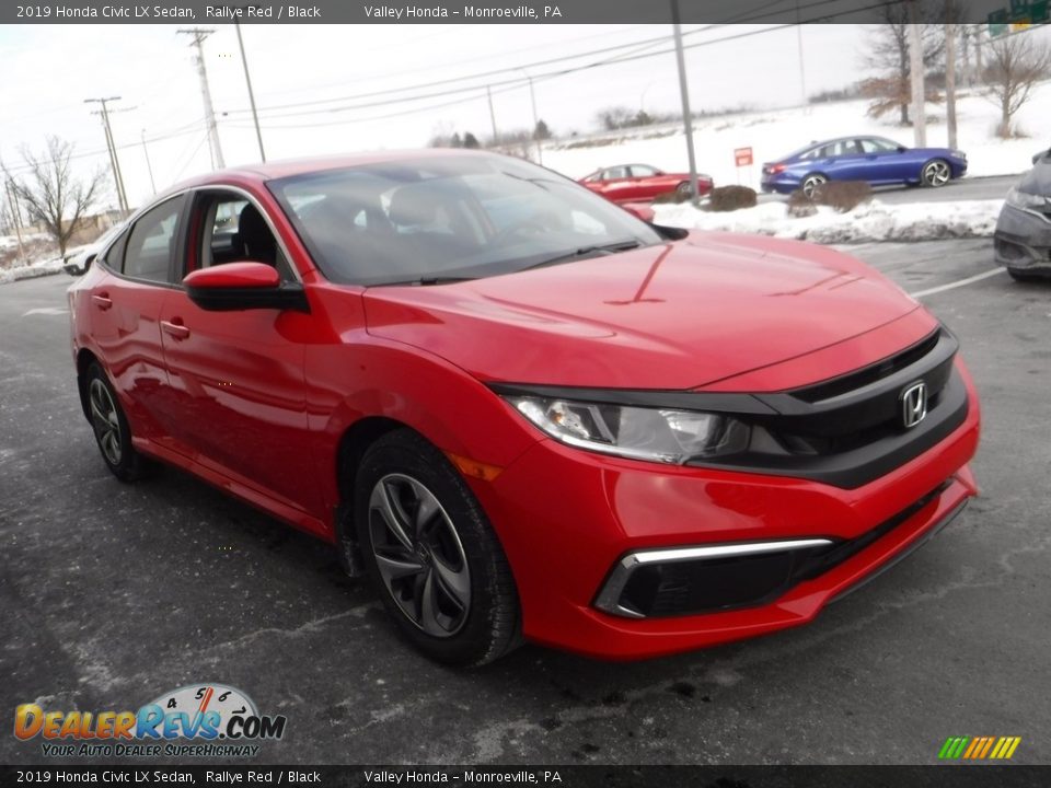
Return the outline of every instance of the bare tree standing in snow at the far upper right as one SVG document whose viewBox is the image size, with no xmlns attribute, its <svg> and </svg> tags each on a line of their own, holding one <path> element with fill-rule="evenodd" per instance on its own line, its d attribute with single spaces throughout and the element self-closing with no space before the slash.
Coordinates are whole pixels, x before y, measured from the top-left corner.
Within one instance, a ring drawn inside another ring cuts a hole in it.
<svg viewBox="0 0 1051 788">
<path fill-rule="evenodd" d="M 997 38 L 989 44 L 985 66 L 986 96 L 1000 107 L 996 132 L 1014 136 L 1015 113 L 1029 101 L 1032 86 L 1051 77 L 1051 48 L 1028 34 Z"/>
</svg>

